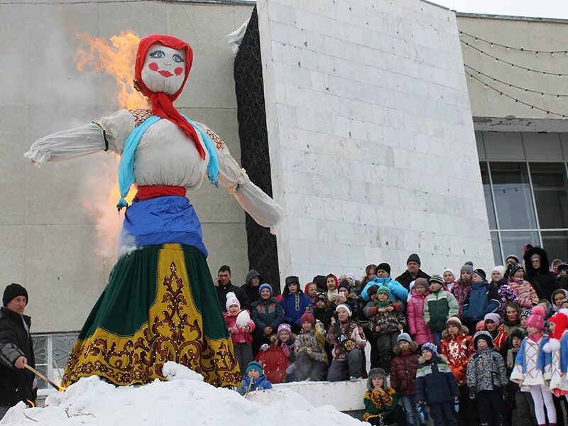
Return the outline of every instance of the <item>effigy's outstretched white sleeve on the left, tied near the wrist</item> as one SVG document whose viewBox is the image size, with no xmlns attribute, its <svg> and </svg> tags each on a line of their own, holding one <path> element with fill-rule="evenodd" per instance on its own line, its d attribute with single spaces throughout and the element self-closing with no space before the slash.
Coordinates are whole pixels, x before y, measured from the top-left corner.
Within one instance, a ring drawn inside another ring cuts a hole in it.
<svg viewBox="0 0 568 426">
<path fill-rule="evenodd" d="M 134 128 L 134 117 L 127 109 L 75 129 L 59 131 L 35 141 L 23 156 L 35 163 L 70 160 L 109 150 L 121 153 L 124 141 Z"/>
</svg>

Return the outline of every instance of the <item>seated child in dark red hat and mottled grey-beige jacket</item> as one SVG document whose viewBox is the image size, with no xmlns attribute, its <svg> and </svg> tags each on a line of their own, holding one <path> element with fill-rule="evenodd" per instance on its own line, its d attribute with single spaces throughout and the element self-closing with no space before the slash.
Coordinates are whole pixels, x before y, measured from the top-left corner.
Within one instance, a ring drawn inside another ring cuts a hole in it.
<svg viewBox="0 0 568 426">
<path fill-rule="evenodd" d="M 294 341 L 295 361 L 286 370 L 288 381 L 325 380 L 327 354 L 324 350 L 323 325 L 316 322 L 311 312 L 302 315 L 301 322 L 302 331 Z"/>
</svg>

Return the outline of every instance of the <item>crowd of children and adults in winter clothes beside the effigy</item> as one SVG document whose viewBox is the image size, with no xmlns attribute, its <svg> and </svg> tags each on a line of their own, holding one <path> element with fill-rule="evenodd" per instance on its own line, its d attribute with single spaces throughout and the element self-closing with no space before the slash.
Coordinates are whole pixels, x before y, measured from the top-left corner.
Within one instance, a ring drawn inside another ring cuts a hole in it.
<svg viewBox="0 0 568 426">
<path fill-rule="evenodd" d="M 406 266 L 396 278 L 388 263 L 368 265 L 361 279 L 330 273 L 300 285 L 289 276 L 278 296 L 257 271 L 238 287 L 220 268 L 248 390 L 251 380 L 254 390 L 367 378 L 373 425 L 564 425 L 568 264 L 526 246 L 488 274 L 466 262 L 459 274 L 428 275 L 415 253 Z"/>
</svg>

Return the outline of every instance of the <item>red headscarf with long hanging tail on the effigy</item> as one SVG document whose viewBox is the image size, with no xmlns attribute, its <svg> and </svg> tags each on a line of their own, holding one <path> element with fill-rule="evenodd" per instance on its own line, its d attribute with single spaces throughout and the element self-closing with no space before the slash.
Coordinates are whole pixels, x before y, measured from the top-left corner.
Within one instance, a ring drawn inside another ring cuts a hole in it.
<svg viewBox="0 0 568 426">
<path fill-rule="evenodd" d="M 160 43 L 165 45 L 168 48 L 172 48 L 175 50 L 185 50 L 185 78 L 183 83 L 178 90 L 174 94 L 165 94 L 165 93 L 155 93 L 151 92 L 146 84 L 142 81 L 142 67 L 144 65 L 144 60 L 146 58 L 146 53 L 148 49 L 154 43 Z M 138 86 L 141 89 L 141 92 L 144 96 L 148 97 L 152 102 L 152 112 L 155 116 L 162 117 L 163 119 L 170 120 L 172 123 L 177 124 L 182 131 L 187 134 L 190 138 L 192 138 L 193 143 L 195 143 L 195 148 L 200 153 L 201 158 L 205 158 L 205 151 L 200 143 L 200 138 L 197 136 L 197 132 L 193 128 L 191 124 L 187 122 L 187 120 L 180 114 L 180 112 L 175 109 L 173 106 L 173 101 L 180 96 L 180 93 L 185 86 L 185 82 L 187 81 L 187 77 L 190 75 L 191 65 L 193 62 L 193 50 L 189 44 L 185 43 L 185 41 L 180 40 L 179 38 L 172 37 L 171 35 L 162 35 L 162 34 L 151 34 L 144 37 L 138 43 L 138 52 L 136 52 L 136 68 L 134 70 L 134 77 L 136 78 L 136 82 L 138 82 Z"/>
</svg>

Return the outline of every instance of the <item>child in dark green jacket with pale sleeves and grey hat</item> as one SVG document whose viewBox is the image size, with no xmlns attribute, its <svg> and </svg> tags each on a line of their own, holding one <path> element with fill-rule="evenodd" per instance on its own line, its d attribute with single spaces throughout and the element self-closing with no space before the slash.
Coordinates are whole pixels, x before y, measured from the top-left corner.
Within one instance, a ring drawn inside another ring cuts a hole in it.
<svg viewBox="0 0 568 426">
<path fill-rule="evenodd" d="M 432 275 L 430 280 L 430 295 L 424 301 L 424 322 L 434 336 L 437 345 L 442 341 L 442 331 L 446 328 L 449 317 L 456 317 L 459 312 L 457 300 L 442 289 L 444 280 L 439 275 Z"/>
</svg>

